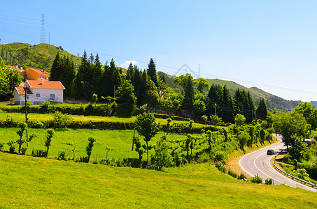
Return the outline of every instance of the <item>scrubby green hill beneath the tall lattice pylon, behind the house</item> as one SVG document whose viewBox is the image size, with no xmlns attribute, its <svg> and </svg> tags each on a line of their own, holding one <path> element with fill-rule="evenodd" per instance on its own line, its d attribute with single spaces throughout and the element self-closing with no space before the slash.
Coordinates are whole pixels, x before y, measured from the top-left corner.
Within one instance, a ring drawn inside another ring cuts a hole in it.
<svg viewBox="0 0 317 209">
<path fill-rule="evenodd" d="M 0 45 L 0 56 L 6 65 L 25 65 L 27 68 L 37 68 L 50 72 L 52 62 L 55 59 L 57 52 L 60 52 L 61 56 L 69 56 L 69 59 L 75 62 L 78 66 L 81 62 L 80 56 L 75 56 L 59 46 L 41 43 L 38 45 L 29 45 L 21 42 L 13 42 L 6 45 Z"/>
</svg>

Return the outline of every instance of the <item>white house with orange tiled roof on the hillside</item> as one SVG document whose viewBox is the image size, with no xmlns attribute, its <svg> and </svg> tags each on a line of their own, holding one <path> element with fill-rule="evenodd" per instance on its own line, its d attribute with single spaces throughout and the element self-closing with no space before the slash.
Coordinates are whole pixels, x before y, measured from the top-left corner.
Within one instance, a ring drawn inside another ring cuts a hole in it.
<svg viewBox="0 0 317 209">
<path fill-rule="evenodd" d="M 62 104 L 65 87 L 58 81 L 26 80 L 23 87 L 15 87 L 13 92 L 15 104 L 24 104 L 25 92 L 27 100 L 33 104 L 42 104 L 45 100 L 51 104 Z"/>
</svg>

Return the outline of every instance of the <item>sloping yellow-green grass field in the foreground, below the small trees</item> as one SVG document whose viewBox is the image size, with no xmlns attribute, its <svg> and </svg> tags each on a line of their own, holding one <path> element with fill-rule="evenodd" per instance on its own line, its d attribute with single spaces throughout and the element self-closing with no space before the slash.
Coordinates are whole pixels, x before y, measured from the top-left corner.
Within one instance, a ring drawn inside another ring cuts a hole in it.
<svg viewBox="0 0 317 209">
<path fill-rule="evenodd" d="M 316 208 L 317 194 L 244 183 L 213 164 L 164 172 L 0 153 L 0 208 Z"/>
</svg>

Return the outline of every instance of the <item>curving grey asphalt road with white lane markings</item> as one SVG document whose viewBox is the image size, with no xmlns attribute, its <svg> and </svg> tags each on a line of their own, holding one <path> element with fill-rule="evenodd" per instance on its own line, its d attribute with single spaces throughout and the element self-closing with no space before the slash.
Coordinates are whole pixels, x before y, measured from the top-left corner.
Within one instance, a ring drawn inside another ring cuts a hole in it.
<svg viewBox="0 0 317 209">
<path fill-rule="evenodd" d="M 275 154 L 277 154 L 279 151 L 286 148 L 286 146 L 284 146 L 283 142 L 281 141 L 281 135 L 277 134 L 274 137 L 280 141 L 276 144 L 272 144 L 265 148 L 261 148 L 260 150 L 256 150 L 253 153 L 248 153 L 247 155 L 240 157 L 239 167 L 246 171 L 246 173 L 248 173 L 250 176 L 256 176 L 258 174 L 262 180 L 272 178 L 274 180 L 274 185 L 281 185 L 285 183 L 291 187 L 300 187 L 312 192 L 317 192 L 317 189 L 308 187 L 307 185 L 302 185 L 301 183 L 297 183 L 295 180 L 283 176 L 271 166 L 270 162 L 274 155 L 267 155 L 267 150 L 273 149 Z"/>
</svg>

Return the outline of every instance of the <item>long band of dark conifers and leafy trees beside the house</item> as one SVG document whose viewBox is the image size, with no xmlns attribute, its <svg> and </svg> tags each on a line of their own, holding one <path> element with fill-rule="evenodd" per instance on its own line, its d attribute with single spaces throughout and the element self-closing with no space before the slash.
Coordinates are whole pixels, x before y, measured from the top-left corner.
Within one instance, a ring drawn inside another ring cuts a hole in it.
<svg viewBox="0 0 317 209">
<path fill-rule="evenodd" d="M 226 86 L 213 84 L 209 88 L 206 79 L 193 79 L 190 74 L 174 77 L 174 83 L 181 86 L 181 91 L 168 88 L 166 77 L 162 75 L 157 78 L 153 59 L 150 59 L 146 70 L 140 70 L 130 63 L 127 72 L 123 73 L 121 68 L 115 67 L 113 59 L 109 65 L 102 65 L 98 54 L 87 58 L 84 52 L 76 72 L 69 58 L 57 54 L 50 79 L 60 80 L 64 84 L 66 97 L 91 100 L 92 95 L 94 99 L 97 95 L 97 100 L 117 100 L 128 104 L 129 109 L 133 109 L 134 104 L 149 104 L 168 111 L 187 109 L 199 117 L 204 114 L 218 115 L 224 122 L 230 123 L 234 123 L 236 114 L 243 114 L 246 123 L 251 123 L 256 117 L 262 120 L 267 118 L 265 100 L 260 99 L 259 108 L 255 109 L 251 94 L 244 90 L 237 89 L 232 98 Z"/>
</svg>

